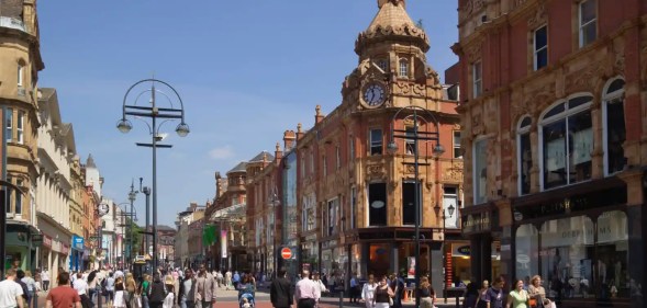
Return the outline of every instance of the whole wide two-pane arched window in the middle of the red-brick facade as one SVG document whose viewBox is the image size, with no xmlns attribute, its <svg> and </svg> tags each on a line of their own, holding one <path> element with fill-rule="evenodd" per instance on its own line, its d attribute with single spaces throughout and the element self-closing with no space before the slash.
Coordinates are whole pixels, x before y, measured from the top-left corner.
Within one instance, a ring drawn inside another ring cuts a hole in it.
<svg viewBox="0 0 647 308">
<path fill-rule="evenodd" d="M 591 179 L 593 129 L 589 94 L 553 105 L 542 117 L 542 187 L 569 185 Z"/>
</svg>

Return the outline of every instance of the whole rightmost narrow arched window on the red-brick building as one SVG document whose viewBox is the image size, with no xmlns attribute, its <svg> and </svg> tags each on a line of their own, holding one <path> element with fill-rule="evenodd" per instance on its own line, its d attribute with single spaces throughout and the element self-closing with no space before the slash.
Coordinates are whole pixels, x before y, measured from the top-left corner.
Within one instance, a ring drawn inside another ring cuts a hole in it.
<svg viewBox="0 0 647 308">
<path fill-rule="evenodd" d="M 626 164 L 623 148 L 626 138 L 624 85 L 625 81 L 618 78 L 609 82 L 604 91 L 602 142 L 605 175 L 622 171 Z"/>
</svg>

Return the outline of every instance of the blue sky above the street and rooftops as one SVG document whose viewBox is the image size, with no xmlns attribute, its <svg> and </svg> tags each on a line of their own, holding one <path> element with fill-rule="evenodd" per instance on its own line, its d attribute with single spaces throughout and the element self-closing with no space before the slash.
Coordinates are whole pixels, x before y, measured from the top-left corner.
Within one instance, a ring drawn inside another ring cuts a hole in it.
<svg viewBox="0 0 647 308">
<path fill-rule="evenodd" d="M 456 1 L 406 2 L 443 76 L 457 61 Z M 172 226 L 189 203 L 213 198 L 215 171 L 274 152 L 286 129 L 313 125 L 316 104 L 326 114 L 339 104 L 342 81 L 357 66 L 355 39 L 377 11 L 377 0 L 42 0 L 38 85 L 57 89 L 77 151 L 83 161 L 92 153 L 103 195 L 119 203 L 132 179 L 152 184 L 150 149 L 135 146 L 150 140 L 148 128 L 137 121 L 127 135 L 115 128 L 125 91 L 153 75 L 178 90 L 191 134 L 163 126 L 174 147 L 157 158 L 158 220 Z M 143 221 L 143 194 L 135 207 Z"/>
</svg>

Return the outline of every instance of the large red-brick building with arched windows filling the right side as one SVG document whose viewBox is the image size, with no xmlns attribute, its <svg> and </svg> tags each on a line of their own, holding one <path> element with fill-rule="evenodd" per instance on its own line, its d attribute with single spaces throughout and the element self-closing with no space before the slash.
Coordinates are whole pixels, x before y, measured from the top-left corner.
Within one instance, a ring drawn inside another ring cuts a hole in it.
<svg viewBox="0 0 647 308">
<path fill-rule="evenodd" d="M 471 276 L 539 274 L 559 307 L 644 307 L 647 2 L 458 12 Z"/>
</svg>

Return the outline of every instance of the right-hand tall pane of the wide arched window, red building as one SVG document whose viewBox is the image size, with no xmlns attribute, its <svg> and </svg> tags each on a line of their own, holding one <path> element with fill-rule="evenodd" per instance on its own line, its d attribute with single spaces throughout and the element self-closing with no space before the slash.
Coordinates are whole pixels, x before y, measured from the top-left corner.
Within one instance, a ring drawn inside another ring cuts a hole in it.
<svg viewBox="0 0 647 308">
<path fill-rule="evenodd" d="M 585 111 L 568 117 L 569 132 L 569 182 L 570 184 L 591 179 L 591 151 L 593 128 L 591 112 Z"/>
</svg>

